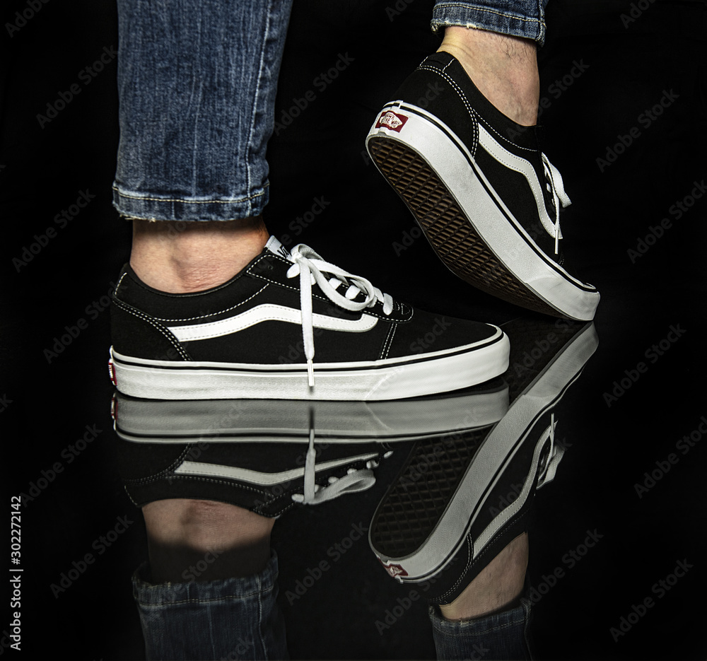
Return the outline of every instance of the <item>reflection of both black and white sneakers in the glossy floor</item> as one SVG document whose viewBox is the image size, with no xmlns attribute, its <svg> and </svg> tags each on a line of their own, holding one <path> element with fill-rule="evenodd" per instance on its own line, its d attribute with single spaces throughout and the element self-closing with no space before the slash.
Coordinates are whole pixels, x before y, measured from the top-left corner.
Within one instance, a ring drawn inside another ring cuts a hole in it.
<svg viewBox="0 0 707 661">
<path fill-rule="evenodd" d="M 520 532 L 564 448 L 555 408 L 597 348 L 593 324 L 505 324 L 503 378 L 390 402 L 158 401 L 116 393 L 119 469 L 136 505 L 196 498 L 277 517 L 370 489 L 407 452 L 369 526 L 399 583 L 448 604 Z"/>
</svg>

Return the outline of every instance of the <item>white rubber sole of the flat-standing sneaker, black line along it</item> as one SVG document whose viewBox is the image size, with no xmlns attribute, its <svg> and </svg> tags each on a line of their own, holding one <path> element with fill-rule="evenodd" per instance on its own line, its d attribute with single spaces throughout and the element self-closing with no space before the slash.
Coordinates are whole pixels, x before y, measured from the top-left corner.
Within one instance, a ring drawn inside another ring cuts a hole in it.
<svg viewBox="0 0 707 661">
<path fill-rule="evenodd" d="M 499 328 L 484 341 L 449 351 L 360 363 L 251 365 L 151 361 L 111 347 L 117 389 L 146 399 L 402 399 L 477 385 L 508 368 L 510 342 Z"/>
</svg>

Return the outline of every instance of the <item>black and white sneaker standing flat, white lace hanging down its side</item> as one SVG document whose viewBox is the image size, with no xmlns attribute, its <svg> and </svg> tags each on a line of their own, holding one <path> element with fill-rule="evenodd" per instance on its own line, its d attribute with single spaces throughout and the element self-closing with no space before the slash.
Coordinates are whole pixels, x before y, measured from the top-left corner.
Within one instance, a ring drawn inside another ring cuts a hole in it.
<svg viewBox="0 0 707 661">
<path fill-rule="evenodd" d="M 127 265 L 111 324 L 111 378 L 148 399 L 400 399 L 475 385 L 508 365 L 498 327 L 411 308 L 274 237 L 203 292 L 157 291 Z"/>
</svg>

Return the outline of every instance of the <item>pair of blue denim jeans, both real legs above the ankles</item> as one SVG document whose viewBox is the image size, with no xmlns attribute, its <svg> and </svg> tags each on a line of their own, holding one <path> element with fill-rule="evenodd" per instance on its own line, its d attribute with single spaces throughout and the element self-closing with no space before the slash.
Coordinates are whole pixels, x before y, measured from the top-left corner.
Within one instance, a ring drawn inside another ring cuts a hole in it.
<svg viewBox="0 0 707 661">
<path fill-rule="evenodd" d="M 122 216 L 226 221 L 262 212 L 291 2 L 117 0 L 113 204 Z M 431 26 L 481 28 L 542 44 L 546 3 L 438 0 Z"/>
</svg>

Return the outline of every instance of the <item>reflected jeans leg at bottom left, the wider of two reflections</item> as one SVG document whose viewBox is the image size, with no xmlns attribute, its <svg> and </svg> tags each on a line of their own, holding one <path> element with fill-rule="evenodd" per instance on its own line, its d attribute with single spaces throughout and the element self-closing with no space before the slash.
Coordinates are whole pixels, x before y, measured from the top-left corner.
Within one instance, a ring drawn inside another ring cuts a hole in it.
<svg viewBox="0 0 707 661">
<path fill-rule="evenodd" d="M 152 585 L 145 568 L 132 581 L 148 659 L 288 658 L 274 551 L 244 578 Z"/>
</svg>

